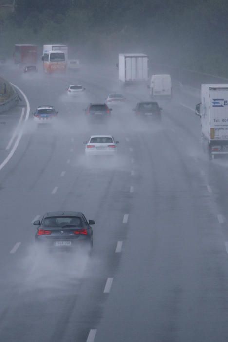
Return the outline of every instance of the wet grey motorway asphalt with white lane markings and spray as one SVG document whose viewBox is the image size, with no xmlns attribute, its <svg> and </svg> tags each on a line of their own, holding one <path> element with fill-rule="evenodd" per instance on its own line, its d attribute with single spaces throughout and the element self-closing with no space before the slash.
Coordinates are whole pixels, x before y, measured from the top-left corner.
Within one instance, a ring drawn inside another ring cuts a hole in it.
<svg viewBox="0 0 228 342">
<path fill-rule="evenodd" d="M 118 90 L 114 69 L 1 72 L 31 112 L 50 104 L 59 117 L 38 127 L 30 115 L 0 170 L 0 341 L 227 342 L 228 161 L 201 151 L 198 92 L 176 90 L 154 126 L 132 111 L 147 89 L 129 88 L 109 123 L 90 125 L 83 109 Z M 65 95 L 73 83 L 85 98 Z M 99 133 L 120 141 L 116 159 L 85 158 Z M 53 210 L 95 220 L 91 257 L 36 252 L 32 221 Z"/>
</svg>

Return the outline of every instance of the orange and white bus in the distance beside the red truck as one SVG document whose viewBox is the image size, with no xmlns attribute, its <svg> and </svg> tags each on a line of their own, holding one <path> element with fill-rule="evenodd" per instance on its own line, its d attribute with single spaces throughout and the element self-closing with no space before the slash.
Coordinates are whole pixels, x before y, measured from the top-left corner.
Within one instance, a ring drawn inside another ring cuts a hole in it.
<svg viewBox="0 0 228 342">
<path fill-rule="evenodd" d="M 46 51 L 42 56 L 43 70 L 48 74 L 66 72 L 67 61 L 65 53 L 59 51 Z"/>
</svg>

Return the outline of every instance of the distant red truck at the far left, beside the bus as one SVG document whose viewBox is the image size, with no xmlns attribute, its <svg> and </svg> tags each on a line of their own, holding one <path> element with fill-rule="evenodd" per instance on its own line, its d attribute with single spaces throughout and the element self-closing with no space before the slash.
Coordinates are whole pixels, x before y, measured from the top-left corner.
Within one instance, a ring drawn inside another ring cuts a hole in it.
<svg viewBox="0 0 228 342">
<path fill-rule="evenodd" d="M 37 63 L 37 45 L 17 44 L 14 50 L 15 64 L 31 64 Z"/>
</svg>

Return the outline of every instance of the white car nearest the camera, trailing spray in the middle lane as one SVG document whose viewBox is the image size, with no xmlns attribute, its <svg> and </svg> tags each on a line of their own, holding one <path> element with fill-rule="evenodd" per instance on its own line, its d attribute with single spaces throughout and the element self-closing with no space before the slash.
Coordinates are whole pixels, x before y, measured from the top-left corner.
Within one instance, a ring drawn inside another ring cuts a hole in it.
<svg viewBox="0 0 228 342">
<path fill-rule="evenodd" d="M 86 155 L 116 155 L 119 142 L 112 135 L 92 135 L 85 141 Z"/>
</svg>

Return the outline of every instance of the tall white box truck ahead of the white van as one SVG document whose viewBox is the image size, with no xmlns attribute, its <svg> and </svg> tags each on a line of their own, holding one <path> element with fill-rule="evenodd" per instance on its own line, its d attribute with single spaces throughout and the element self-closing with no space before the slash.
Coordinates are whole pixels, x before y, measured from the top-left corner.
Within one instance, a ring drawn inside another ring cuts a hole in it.
<svg viewBox="0 0 228 342">
<path fill-rule="evenodd" d="M 119 81 L 121 85 L 148 81 L 148 56 L 142 53 L 119 54 Z"/>
</svg>

